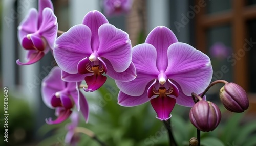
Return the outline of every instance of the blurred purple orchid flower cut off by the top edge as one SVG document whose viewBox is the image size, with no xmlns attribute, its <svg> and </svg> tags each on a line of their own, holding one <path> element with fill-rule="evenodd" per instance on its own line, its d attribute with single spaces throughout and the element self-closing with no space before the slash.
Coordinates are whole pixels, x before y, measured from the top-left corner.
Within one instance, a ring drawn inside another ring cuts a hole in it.
<svg viewBox="0 0 256 146">
<path fill-rule="evenodd" d="M 109 16 L 128 13 L 132 9 L 132 4 L 132 0 L 104 0 L 104 13 Z"/>
</svg>

